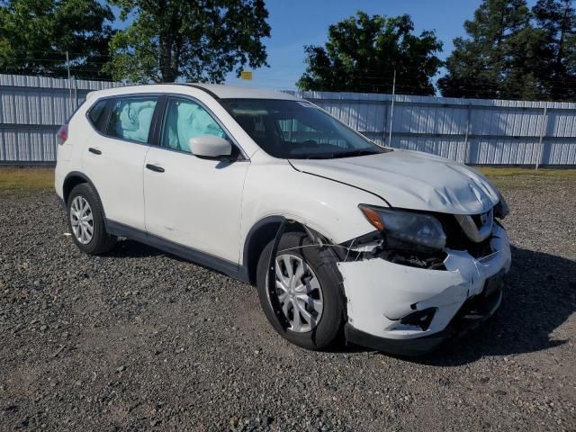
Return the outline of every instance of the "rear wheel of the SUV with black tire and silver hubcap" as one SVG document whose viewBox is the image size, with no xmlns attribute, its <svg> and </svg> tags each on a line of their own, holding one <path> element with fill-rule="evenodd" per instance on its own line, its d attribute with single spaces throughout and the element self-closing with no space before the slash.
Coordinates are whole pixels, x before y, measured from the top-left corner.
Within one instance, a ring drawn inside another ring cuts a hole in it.
<svg viewBox="0 0 576 432">
<path fill-rule="evenodd" d="M 91 184 L 78 184 L 72 189 L 67 199 L 67 220 L 74 243 L 88 255 L 105 254 L 116 244 L 116 237 L 106 231 L 102 203 Z"/>
</svg>

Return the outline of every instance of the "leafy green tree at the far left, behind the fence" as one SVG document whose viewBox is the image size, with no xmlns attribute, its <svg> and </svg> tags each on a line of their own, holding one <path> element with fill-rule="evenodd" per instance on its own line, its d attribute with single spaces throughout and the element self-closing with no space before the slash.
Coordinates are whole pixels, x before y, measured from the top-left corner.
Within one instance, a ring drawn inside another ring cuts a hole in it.
<svg viewBox="0 0 576 432">
<path fill-rule="evenodd" d="M 0 73 L 110 76 L 103 71 L 114 16 L 97 0 L 0 0 Z"/>
</svg>

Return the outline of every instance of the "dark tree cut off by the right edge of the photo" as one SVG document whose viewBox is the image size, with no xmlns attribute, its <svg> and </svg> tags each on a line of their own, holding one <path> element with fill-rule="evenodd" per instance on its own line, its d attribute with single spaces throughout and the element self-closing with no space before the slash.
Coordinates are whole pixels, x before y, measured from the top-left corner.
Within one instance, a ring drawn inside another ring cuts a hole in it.
<svg viewBox="0 0 576 432">
<path fill-rule="evenodd" d="M 545 36 L 536 76 L 553 100 L 576 99 L 576 14 L 571 0 L 538 0 L 532 8 Z"/>
</svg>

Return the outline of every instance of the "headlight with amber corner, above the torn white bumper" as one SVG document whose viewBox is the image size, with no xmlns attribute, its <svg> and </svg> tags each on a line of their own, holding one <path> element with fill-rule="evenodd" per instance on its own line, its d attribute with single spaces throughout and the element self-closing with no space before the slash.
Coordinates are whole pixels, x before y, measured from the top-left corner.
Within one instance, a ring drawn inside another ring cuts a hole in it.
<svg viewBox="0 0 576 432">
<path fill-rule="evenodd" d="M 428 214 L 398 211 L 360 204 L 366 219 L 386 233 L 388 238 L 424 247 L 441 249 L 446 246 L 446 234 L 440 222 Z"/>
</svg>

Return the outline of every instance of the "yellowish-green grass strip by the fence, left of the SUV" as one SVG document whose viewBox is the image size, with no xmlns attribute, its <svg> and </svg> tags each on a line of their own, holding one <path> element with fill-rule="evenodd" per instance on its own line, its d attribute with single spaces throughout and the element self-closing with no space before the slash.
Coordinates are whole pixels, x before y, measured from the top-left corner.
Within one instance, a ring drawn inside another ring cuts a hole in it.
<svg viewBox="0 0 576 432">
<path fill-rule="evenodd" d="M 0 192 L 39 191 L 54 188 L 54 167 L 0 166 Z"/>
</svg>

